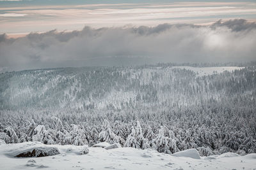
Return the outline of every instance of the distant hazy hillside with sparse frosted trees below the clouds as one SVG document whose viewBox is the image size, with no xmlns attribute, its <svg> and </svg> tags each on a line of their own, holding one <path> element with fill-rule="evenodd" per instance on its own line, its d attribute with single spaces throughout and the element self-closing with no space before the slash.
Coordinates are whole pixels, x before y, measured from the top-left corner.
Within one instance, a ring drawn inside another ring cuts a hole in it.
<svg viewBox="0 0 256 170">
<path fill-rule="evenodd" d="M 235 70 L 240 72 L 232 73 Z M 228 74 L 217 74 L 224 71 Z M 222 79 L 231 82 L 221 81 L 224 85 L 216 87 Z M 223 90 L 237 89 L 239 82 L 250 83 L 251 79 L 252 71 L 246 67 L 81 67 L 8 72 L 0 74 L 0 110 L 187 107 L 202 100 L 220 101 L 226 97 Z"/>
</svg>

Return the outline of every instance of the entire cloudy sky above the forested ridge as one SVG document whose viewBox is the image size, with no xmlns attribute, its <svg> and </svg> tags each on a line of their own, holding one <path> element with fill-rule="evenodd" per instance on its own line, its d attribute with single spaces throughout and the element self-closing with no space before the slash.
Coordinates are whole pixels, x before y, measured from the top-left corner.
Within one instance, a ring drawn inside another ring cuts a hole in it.
<svg viewBox="0 0 256 170">
<path fill-rule="evenodd" d="M 0 67 L 255 60 L 256 1 L 0 0 Z"/>
</svg>

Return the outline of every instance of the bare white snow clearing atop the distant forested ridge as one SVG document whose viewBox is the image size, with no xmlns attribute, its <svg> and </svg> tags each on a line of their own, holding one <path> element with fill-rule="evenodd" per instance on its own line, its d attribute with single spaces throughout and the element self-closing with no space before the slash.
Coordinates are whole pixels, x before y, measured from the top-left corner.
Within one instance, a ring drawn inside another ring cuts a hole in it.
<svg viewBox="0 0 256 170">
<path fill-rule="evenodd" d="M 224 71 L 235 71 L 236 69 L 243 69 L 244 67 L 190 67 L 190 66 L 173 66 L 179 69 L 188 69 L 194 71 L 197 76 L 207 76 L 215 73 L 223 73 Z"/>
</svg>

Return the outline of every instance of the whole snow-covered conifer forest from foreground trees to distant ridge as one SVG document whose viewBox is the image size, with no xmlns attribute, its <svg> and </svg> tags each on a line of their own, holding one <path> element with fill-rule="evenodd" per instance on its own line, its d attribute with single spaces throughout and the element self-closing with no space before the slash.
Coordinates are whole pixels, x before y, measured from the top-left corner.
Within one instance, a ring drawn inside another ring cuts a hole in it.
<svg viewBox="0 0 256 170">
<path fill-rule="evenodd" d="M 256 153 L 256 63 L 188 66 L 194 65 L 1 73 L 0 139 Z"/>
</svg>

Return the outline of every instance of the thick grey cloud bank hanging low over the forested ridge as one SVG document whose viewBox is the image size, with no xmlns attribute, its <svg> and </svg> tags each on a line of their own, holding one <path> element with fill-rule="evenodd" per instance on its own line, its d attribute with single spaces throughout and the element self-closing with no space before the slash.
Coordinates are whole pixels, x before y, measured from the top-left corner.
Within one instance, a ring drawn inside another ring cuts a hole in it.
<svg viewBox="0 0 256 170">
<path fill-rule="evenodd" d="M 16 39 L 0 35 L 0 67 L 12 69 L 252 60 L 256 60 L 256 23 L 242 19 L 209 26 L 84 27 Z"/>
</svg>

